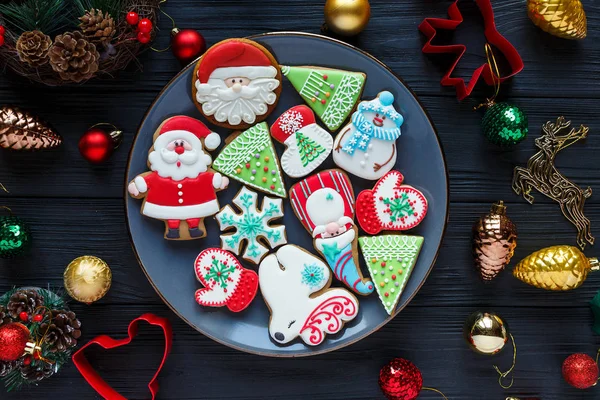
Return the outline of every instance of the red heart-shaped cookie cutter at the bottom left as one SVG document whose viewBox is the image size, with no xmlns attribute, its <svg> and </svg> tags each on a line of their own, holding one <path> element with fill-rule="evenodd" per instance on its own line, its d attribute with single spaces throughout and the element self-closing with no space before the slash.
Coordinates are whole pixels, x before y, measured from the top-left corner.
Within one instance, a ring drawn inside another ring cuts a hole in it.
<svg viewBox="0 0 600 400">
<path fill-rule="evenodd" d="M 146 321 L 150 325 L 159 326 L 164 334 L 165 334 L 165 352 L 160 363 L 160 366 L 156 370 L 156 373 L 152 377 L 152 380 L 148 384 L 148 388 L 150 389 L 150 393 L 152 394 L 152 399 L 156 397 L 158 393 L 158 374 L 160 370 L 165 365 L 167 361 L 167 357 L 171 352 L 171 346 L 173 344 L 173 331 L 171 329 L 171 323 L 166 318 L 157 317 L 154 314 L 144 314 L 129 324 L 129 328 L 127 332 L 129 336 L 124 339 L 113 339 L 110 336 L 102 335 L 92 339 L 89 343 L 83 346 L 81 349 L 77 350 L 75 354 L 73 354 L 73 363 L 75 367 L 79 370 L 79 373 L 85 378 L 85 380 L 90 384 L 92 388 L 102 397 L 107 400 L 127 400 L 126 397 L 120 395 L 116 390 L 114 390 L 104 379 L 100 377 L 98 372 L 90 365 L 87 358 L 83 354 L 84 350 L 93 345 L 97 344 L 104 349 L 114 349 L 116 347 L 126 346 L 133 338 L 137 335 L 138 324 L 140 321 Z"/>
</svg>

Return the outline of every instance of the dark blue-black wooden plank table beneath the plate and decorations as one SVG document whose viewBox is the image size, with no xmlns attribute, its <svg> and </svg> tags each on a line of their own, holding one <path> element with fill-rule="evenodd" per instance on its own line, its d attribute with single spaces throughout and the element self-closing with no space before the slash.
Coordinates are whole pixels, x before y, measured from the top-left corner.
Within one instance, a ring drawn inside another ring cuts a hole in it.
<svg viewBox="0 0 600 400">
<path fill-rule="evenodd" d="M 318 33 L 323 0 L 197 1 L 170 0 L 165 10 L 180 27 L 196 28 L 209 44 L 228 37 L 268 31 Z M 575 229 L 558 206 L 536 196 L 531 206 L 517 197 L 510 182 L 515 165 L 534 151 L 541 124 L 564 115 L 590 126 L 589 138 L 558 157 L 560 170 L 582 186 L 600 190 L 600 1 L 585 1 L 589 36 L 581 42 L 554 38 L 531 24 L 524 0 L 495 0 L 500 32 L 518 48 L 525 69 L 504 86 L 502 97 L 529 116 L 530 137 L 514 150 L 489 145 L 480 128 L 476 100 L 491 89 L 478 87 L 459 103 L 440 87 L 448 59 L 421 54 L 424 38 L 417 25 L 427 16 L 445 17 L 450 1 L 372 0 L 368 28 L 353 43 L 390 66 L 415 90 L 439 131 L 450 172 L 450 220 L 439 259 L 429 279 L 391 323 L 365 340 L 334 353 L 303 359 L 273 359 L 240 353 L 190 328 L 163 304 L 141 271 L 129 243 L 123 206 L 128 151 L 136 128 L 161 88 L 179 71 L 170 53 L 148 52 L 143 72 L 122 73 L 115 80 L 83 86 L 46 88 L 12 76 L 0 78 L 2 103 L 25 106 L 63 134 L 53 152 L 1 152 L 0 182 L 10 194 L 2 205 L 33 228 L 35 244 L 25 258 L 0 262 L 0 292 L 14 285 L 60 287 L 65 266 L 75 257 L 93 254 L 112 267 L 113 287 L 97 304 L 73 304 L 84 325 L 82 341 L 98 334 L 122 336 L 128 321 L 152 312 L 173 323 L 175 343 L 160 377 L 161 399 L 380 399 L 379 369 L 393 357 L 412 360 L 426 386 L 449 399 L 502 400 L 507 395 L 544 400 L 600 398 L 600 388 L 577 391 L 561 377 L 562 361 L 571 353 L 593 355 L 594 336 L 588 302 L 600 276 L 573 292 L 547 293 L 528 287 L 504 272 L 490 285 L 477 278 L 471 260 L 470 230 L 492 202 L 503 199 L 519 228 L 519 260 L 541 247 L 575 244 Z M 466 21 L 448 40 L 466 43 L 468 54 L 458 74 L 467 77 L 483 61 L 481 19 L 471 1 L 464 2 Z M 158 47 L 168 43 L 168 21 Z M 97 122 L 112 122 L 125 141 L 110 161 L 90 166 L 79 155 L 77 141 Z M 599 234 L 600 195 L 585 207 Z M 593 247 L 588 256 L 598 255 Z M 471 352 L 462 325 L 472 311 L 496 310 L 510 324 L 518 346 L 515 384 L 504 391 L 492 364 L 511 362 L 511 350 L 494 358 Z M 147 382 L 162 351 L 157 330 L 143 333 L 124 351 L 91 352 L 91 361 L 127 398 L 148 398 Z M 93 399 L 98 396 L 72 364 L 39 387 L 2 394 L 3 399 Z M 437 399 L 423 392 L 421 398 Z"/>
</svg>

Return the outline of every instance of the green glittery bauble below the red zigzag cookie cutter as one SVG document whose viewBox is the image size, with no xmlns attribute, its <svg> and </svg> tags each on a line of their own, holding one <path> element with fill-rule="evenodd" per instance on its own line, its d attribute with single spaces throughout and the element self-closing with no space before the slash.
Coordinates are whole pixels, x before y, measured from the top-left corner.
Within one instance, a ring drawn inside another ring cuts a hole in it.
<svg viewBox="0 0 600 400">
<path fill-rule="evenodd" d="M 491 105 L 483 116 L 483 133 L 499 146 L 513 146 L 527 137 L 527 116 L 509 103 Z"/>
</svg>

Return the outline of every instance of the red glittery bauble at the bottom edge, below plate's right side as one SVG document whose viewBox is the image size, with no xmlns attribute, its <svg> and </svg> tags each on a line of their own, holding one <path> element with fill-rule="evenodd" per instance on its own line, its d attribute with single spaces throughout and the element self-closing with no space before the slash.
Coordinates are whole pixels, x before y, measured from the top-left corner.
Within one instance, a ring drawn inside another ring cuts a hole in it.
<svg viewBox="0 0 600 400">
<path fill-rule="evenodd" d="M 390 400 L 413 400 L 421 392 L 423 377 L 415 364 L 403 358 L 394 358 L 381 368 L 379 387 Z"/>
</svg>

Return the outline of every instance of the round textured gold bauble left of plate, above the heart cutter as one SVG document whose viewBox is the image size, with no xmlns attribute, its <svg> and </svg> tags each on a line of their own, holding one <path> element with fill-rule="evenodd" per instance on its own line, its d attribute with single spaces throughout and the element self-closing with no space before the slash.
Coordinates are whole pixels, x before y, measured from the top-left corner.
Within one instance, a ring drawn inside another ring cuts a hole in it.
<svg viewBox="0 0 600 400">
<path fill-rule="evenodd" d="M 104 297 L 110 289 L 112 272 L 102 259 L 82 256 L 67 266 L 64 280 L 69 296 L 82 303 L 91 304 Z"/>
</svg>

